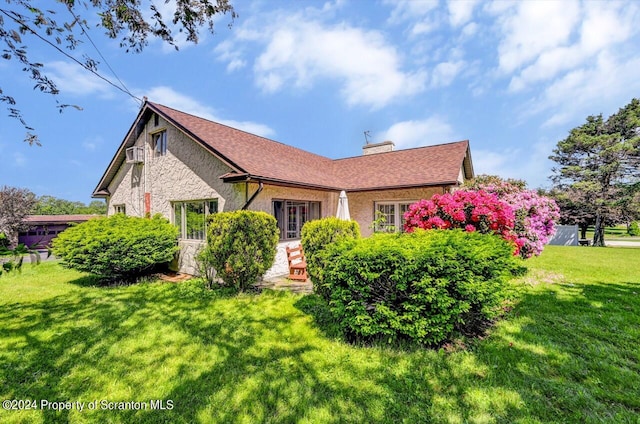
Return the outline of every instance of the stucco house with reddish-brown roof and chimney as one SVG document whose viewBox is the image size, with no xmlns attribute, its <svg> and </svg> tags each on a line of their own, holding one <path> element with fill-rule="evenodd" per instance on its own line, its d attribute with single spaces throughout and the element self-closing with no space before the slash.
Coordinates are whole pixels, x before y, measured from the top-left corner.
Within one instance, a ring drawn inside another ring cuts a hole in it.
<svg viewBox="0 0 640 424">
<path fill-rule="evenodd" d="M 393 147 L 368 144 L 362 156 L 333 160 L 145 101 L 93 197 L 106 198 L 109 215 L 160 213 L 177 225 L 187 273 L 196 272 L 207 215 L 271 213 L 281 243 L 269 277 L 286 272 L 285 246 L 299 243 L 305 222 L 336 214 L 341 190 L 367 236 L 376 212 L 384 227 L 400 228 L 409 204 L 473 178 L 468 141 Z"/>
</svg>

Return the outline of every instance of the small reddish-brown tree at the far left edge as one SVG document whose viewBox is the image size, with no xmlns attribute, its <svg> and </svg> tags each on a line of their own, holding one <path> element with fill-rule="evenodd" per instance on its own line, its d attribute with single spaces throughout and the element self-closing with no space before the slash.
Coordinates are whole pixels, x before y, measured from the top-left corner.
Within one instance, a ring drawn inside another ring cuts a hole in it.
<svg viewBox="0 0 640 424">
<path fill-rule="evenodd" d="M 26 188 L 3 186 L 0 189 L 0 233 L 16 245 L 18 232 L 26 229 L 25 218 L 36 202 L 36 195 Z"/>
</svg>

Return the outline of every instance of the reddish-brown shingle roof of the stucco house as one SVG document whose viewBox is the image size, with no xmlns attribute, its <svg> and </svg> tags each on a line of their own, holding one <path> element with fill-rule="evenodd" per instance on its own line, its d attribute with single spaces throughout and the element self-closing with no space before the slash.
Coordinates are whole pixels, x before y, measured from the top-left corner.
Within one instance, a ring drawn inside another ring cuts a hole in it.
<svg viewBox="0 0 640 424">
<path fill-rule="evenodd" d="M 455 184 L 461 166 L 473 175 L 469 142 L 440 144 L 332 160 L 296 147 L 218 124 L 156 103 L 145 103 L 105 172 L 94 196 L 104 196 L 135 141 L 141 121 L 156 112 L 226 162 L 234 171 L 225 181 L 252 178 L 276 184 L 329 190 L 379 190 Z M 466 158 L 466 160 L 465 160 Z"/>
</svg>

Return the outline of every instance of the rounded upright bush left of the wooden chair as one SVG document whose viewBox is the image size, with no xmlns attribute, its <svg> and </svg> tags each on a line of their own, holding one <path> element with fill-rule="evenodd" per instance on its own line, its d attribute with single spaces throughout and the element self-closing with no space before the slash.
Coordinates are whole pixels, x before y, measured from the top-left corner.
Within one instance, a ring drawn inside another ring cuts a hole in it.
<svg viewBox="0 0 640 424">
<path fill-rule="evenodd" d="M 266 212 L 216 213 L 209 217 L 208 245 L 199 260 L 209 261 L 217 277 L 244 291 L 273 265 L 278 238 L 276 219 Z"/>
</svg>

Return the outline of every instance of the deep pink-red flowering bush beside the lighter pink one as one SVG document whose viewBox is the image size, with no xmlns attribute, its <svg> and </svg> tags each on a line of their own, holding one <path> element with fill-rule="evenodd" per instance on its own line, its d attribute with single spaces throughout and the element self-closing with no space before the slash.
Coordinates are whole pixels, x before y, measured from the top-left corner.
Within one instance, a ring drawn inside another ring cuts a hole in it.
<svg viewBox="0 0 640 424">
<path fill-rule="evenodd" d="M 497 234 L 515 246 L 514 254 L 520 254 L 524 245 L 514 232 L 513 208 L 484 190 L 435 194 L 430 200 L 420 200 L 409 206 L 404 214 L 404 229 L 461 228 L 467 232 Z"/>
</svg>

